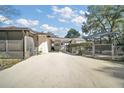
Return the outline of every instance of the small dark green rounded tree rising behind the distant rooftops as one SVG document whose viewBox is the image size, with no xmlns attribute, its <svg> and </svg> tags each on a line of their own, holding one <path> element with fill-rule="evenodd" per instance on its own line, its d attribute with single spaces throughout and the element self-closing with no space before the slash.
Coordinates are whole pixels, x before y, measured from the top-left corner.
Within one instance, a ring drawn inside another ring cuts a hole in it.
<svg viewBox="0 0 124 93">
<path fill-rule="evenodd" d="M 75 29 L 71 28 L 65 38 L 77 38 L 80 36 L 80 33 L 76 31 Z"/>
</svg>

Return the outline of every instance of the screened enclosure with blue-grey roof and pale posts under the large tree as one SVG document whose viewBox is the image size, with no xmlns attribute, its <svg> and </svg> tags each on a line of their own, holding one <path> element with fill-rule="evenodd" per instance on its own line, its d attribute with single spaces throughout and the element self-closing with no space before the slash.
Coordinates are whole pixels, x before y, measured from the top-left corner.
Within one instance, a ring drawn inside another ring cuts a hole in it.
<svg viewBox="0 0 124 93">
<path fill-rule="evenodd" d="M 120 42 L 120 33 L 106 32 L 91 35 L 87 39 L 92 41 L 93 57 L 120 60 L 124 59 L 124 44 Z M 86 50 L 85 50 L 86 51 Z"/>
</svg>

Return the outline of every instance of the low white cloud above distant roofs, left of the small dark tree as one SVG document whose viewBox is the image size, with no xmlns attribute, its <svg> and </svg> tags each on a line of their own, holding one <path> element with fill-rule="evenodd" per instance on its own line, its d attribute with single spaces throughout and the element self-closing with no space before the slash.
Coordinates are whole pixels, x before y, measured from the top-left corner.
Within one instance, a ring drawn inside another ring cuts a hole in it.
<svg viewBox="0 0 124 93">
<path fill-rule="evenodd" d="M 67 34 L 68 28 L 63 27 L 55 27 L 48 24 L 43 24 L 40 27 L 44 32 L 52 32 L 55 35 L 58 35 L 60 37 L 64 37 Z"/>
</svg>

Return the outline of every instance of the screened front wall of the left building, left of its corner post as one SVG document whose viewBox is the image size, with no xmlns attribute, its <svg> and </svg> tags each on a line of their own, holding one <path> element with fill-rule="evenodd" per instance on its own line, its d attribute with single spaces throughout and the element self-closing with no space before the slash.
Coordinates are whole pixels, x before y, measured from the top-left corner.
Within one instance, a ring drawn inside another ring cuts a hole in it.
<svg viewBox="0 0 124 93">
<path fill-rule="evenodd" d="M 0 31 L 0 57 L 23 58 L 23 34 L 21 31 Z"/>
</svg>

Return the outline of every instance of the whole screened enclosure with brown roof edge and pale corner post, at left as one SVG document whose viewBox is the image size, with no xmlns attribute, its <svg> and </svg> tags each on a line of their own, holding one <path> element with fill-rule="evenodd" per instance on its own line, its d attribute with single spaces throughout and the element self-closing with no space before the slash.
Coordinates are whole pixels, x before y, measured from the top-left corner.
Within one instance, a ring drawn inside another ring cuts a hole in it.
<svg viewBox="0 0 124 93">
<path fill-rule="evenodd" d="M 25 59 L 34 55 L 35 34 L 29 28 L 1 27 L 0 58 Z"/>
</svg>

